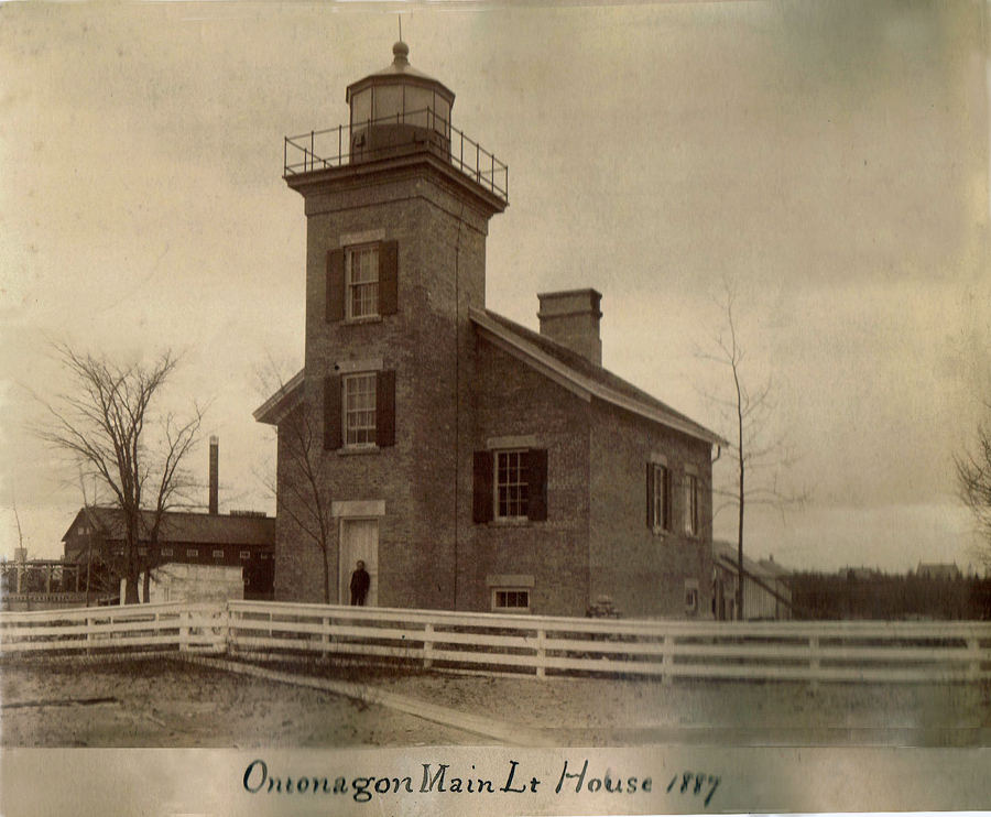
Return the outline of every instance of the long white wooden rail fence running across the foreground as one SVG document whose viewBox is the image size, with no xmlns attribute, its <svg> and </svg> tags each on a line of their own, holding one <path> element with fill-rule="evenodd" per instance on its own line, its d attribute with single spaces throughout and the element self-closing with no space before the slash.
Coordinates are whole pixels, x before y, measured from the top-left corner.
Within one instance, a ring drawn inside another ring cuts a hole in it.
<svg viewBox="0 0 991 817">
<path fill-rule="evenodd" d="M 631 621 L 261 601 L 0 614 L 4 655 L 149 649 L 537 677 L 991 679 L 987 622 Z"/>
</svg>

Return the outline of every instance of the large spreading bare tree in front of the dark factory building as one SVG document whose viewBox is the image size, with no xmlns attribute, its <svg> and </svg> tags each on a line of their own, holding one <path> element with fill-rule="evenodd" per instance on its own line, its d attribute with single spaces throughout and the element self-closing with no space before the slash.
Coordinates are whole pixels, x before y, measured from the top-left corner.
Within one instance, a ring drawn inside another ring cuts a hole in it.
<svg viewBox="0 0 991 817">
<path fill-rule="evenodd" d="M 72 385 L 54 401 L 37 399 L 47 415 L 35 432 L 72 456 L 80 477 L 94 478 L 120 511 L 124 603 L 137 603 L 140 568 L 146 584 L 150 567 L 140 562 L 138 543 L 142 534 L 150 537 L 151 553 L 165 513 L 186 499 L 193 480 L 182 466 L 199 438 L 204 411 L 194 403 L 182 418 L 156 413 L 156 400 L 181 360 L 171 351 L 149 364 L 121 366 L 64 344 L 54 350 Z"/>
</svg>

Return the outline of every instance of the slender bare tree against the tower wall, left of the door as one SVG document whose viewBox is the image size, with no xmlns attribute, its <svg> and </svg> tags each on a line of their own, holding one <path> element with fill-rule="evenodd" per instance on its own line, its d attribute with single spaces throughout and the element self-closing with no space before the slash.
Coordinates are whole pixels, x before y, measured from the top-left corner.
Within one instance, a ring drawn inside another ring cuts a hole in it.
<svg viewBox="0 0 991 817">
<path fill-rule="evenodd" d="M 268 395 L 287 396 L 302 383 L 277 375 L 270 359 L 266 371 L 258 379 Z M 297 375 L 298 377 L 298 375 Z M 275 388 L 272 388 L 272 386 Z M 324 457 L 323 420 L 305 397 L 279 421 L 279 458 L 276 476 L 263 478 L 275 495 L 276 515 L 291 521 L 305 538 L 319 551 L 324 566 L 324 603 L 330 603 L 330 545 L 334 534 L 330 487 L 320 479 Z M 279 479 L 282 470 L 283 478 Z"/>
</svg>

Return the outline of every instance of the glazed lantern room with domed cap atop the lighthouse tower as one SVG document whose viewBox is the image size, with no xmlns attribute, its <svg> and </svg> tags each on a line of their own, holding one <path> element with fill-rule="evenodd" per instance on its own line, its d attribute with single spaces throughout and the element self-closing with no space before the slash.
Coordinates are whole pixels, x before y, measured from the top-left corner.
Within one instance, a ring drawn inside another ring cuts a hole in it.
<svg viewBox="0 0 991 817">
<path fill-rule="evenodd" d="M 392 46 L 392 64 L 348 86 L 350 161 L 388 159 L 417 150 L 450 157 L 454 92 L 410 66 L 410 47 Z"/>
</svg>

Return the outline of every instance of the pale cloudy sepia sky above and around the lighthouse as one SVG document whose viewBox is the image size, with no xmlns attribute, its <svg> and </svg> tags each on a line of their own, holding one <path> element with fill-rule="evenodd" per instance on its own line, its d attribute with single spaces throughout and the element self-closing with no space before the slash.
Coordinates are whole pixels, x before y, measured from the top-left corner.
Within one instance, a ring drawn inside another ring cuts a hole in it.
<svg viewBox="0 0 991 817">
<path fill-rule="evenodd" d="M 537 328 L 536 293 L 597 288 L 603 364 L 729 436 L 730 282 L 784 440 L 766 478 L 808 495 L 752 506 L 747 553 L 977 564 L 954 456 L 991 422 L 984 0 L 0 6 L 0 556 L 59 556 L 83 502 L 31 433 L 66 385 L 52 342 L 183 352 L 166 400 L 209 405 L 221 511 L 274 513 L 251 413 L 259 371 L 303 360 L 283 138 L 347 122 L 398 11 L 454 126 L 509 165 L 489 308 Z"/>
</svg>

